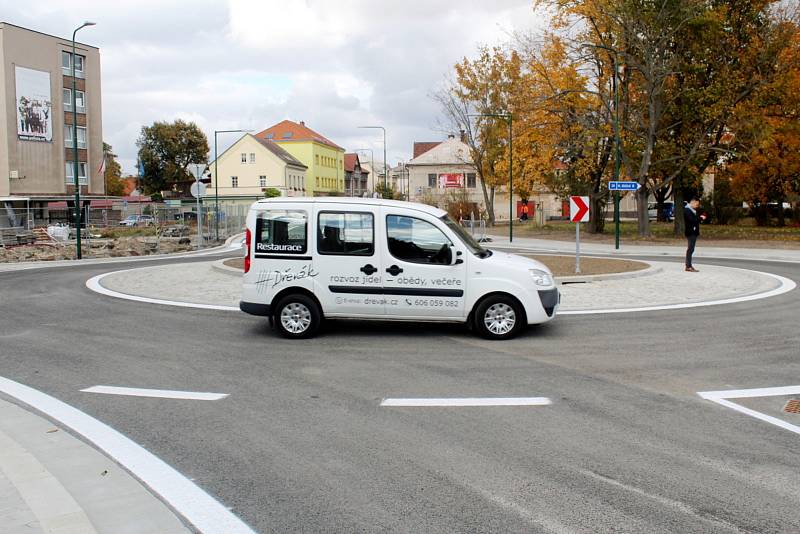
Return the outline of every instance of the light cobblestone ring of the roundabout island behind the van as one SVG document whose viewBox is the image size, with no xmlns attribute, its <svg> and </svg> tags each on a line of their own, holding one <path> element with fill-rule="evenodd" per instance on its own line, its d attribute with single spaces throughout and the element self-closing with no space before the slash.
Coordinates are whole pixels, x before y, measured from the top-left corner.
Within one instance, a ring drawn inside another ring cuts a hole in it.
<svg viewBox="0 0 800 534">
<path fill-rule="evenodd" d="M 678 263 L 648 263 L 656 267 L 650 275 L 561 285 L 561 311 L 715 301 L 763 293 L 780 285 L 773 277 L 743 269 L 698 264 L 699 273 L 687 273 Z M 237 307 L 241 277 L 221 272 L 213 264 L 144 267 L 110 274 L 100 283 L 128 295 Z"/>
</svg>

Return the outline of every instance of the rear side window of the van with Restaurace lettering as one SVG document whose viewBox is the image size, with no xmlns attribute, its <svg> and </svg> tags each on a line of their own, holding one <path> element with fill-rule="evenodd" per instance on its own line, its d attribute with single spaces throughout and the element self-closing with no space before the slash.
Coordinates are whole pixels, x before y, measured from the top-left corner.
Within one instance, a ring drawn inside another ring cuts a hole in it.
<svg viewBox="0 0 800 534">
<path fill-rule="evenodd" d="M 305 254 L 308 216 L 300 210 L 266 210 L 256 219 L 256 254 Z"/>
</svg>

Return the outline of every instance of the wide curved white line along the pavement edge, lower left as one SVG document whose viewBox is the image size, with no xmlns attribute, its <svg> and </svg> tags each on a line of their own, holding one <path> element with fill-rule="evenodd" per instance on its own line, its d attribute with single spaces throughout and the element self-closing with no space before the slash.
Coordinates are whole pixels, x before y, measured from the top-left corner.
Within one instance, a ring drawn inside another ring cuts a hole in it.
<svg viewBox="0 0 800 534">
<path fill-rule="evenodd" d="M 130 471 L 200 532 L 255 531 L 169 464 L 97 419 L 36 389 L 0 377 L 0 392 L 44 413 L 95 444 Z"/>
</svg>

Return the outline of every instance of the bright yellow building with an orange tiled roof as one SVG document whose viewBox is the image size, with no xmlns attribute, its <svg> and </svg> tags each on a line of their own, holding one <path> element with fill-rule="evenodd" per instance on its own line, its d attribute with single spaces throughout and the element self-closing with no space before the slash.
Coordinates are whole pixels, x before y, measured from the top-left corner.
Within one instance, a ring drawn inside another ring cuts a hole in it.
<svg viewBox="0 0 800 534">
<path fill-rule="evenodd" d="M 281 121 L 256 137 L 277 143 L 308 167 L 306 195 L 344 194 L 344 149 L 303 121 Z"/>
</svg>

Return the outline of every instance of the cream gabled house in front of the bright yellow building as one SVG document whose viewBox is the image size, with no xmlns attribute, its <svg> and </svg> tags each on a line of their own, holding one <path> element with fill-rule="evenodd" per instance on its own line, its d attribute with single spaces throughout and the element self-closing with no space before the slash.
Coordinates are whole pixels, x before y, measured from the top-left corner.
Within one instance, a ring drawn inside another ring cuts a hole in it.
<svg viewBox="0 0 800 534">
<path fill-rule="evenodd" d="M 282 196 L 307 196 L 307 167 L 272 141 L 245 134 L 209 164 L 204 201 L 251 203 L 275 188 Z M 219 182 L 217 182 L 219 173 Z"/>
</svg>

